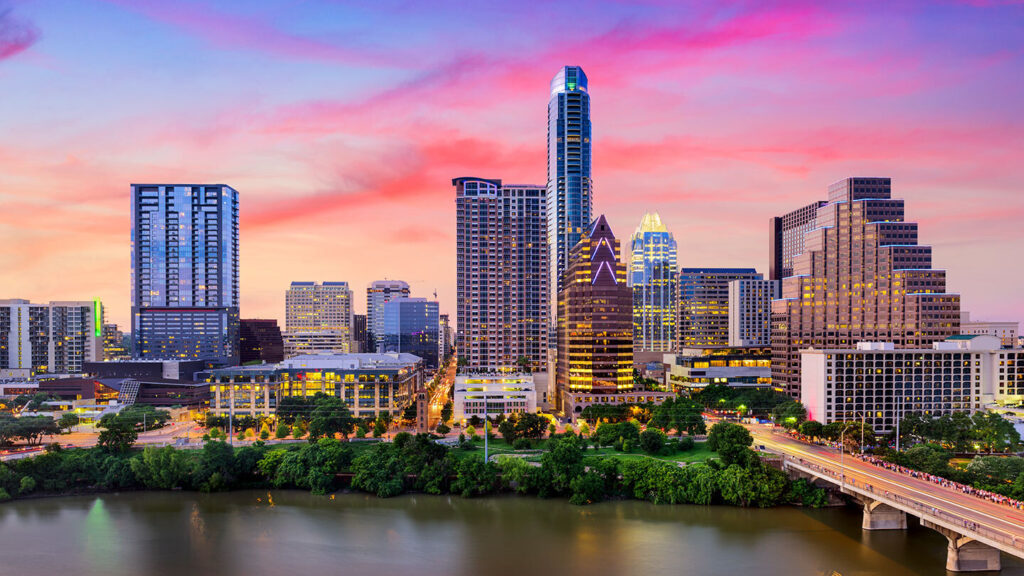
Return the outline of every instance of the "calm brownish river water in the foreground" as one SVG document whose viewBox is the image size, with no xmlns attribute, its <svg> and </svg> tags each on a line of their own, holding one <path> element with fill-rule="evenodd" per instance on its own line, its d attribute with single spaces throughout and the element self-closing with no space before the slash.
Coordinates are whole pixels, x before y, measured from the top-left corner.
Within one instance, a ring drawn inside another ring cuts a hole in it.
<svg viewBox="0 0 1024 576">
<path fill-rule="evenodd" d="M 8 502 L 0 549 L 4 576 L 901 576 L 945 574 L 946 540 L 862 532 L 852 508 L 246 491 Z"/>
</svg>

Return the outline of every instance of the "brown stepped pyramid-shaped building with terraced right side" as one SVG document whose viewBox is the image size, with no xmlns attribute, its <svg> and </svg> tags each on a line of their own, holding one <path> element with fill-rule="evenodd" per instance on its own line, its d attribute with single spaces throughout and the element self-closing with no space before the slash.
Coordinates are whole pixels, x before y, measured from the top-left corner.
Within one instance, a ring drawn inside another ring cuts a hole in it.
<svg viewBox="0 0 1024 576">
<path fill-rule="evenodd" d="M 959 296 L 946 293 L 932 248 L 918 244 L 890 178 L 828 187 L 782 297 L 772 301 L 772 381 L 800 396 L 800 351 L 861 341 L 924 348 L 959 333 Z"/>
</svg>

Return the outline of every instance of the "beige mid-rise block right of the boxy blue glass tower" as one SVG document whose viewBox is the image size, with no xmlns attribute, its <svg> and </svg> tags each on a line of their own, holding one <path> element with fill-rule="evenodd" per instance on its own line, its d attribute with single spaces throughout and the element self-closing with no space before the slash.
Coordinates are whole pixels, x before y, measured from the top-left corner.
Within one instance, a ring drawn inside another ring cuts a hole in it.
<svg viewBox="0 0 1024 576">
<path fill-rule="evenodd" d="M 285 354 L 347 354 L 352 291 L 347 282 L 293 282 L 285 294 Z"/>
</svg>

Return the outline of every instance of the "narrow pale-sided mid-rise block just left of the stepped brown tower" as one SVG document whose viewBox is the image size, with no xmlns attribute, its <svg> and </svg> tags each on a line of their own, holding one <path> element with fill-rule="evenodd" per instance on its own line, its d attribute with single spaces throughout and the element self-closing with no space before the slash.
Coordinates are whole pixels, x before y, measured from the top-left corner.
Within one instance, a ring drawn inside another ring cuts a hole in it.
<svg viewBox="0 0 1024 576">
<path fill-rule="evenodd" d="M 771 301 L 781 296 L 777 280 L 729 282 L 729 345 L 771 345 Z"/>
</svg>

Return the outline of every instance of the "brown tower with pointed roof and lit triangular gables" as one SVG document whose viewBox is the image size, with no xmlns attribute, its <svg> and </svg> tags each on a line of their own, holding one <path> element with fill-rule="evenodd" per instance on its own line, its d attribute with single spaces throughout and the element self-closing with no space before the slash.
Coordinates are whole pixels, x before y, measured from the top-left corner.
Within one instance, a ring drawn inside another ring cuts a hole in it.
<svg viewBox="0 0 1024 576">
<path fill-rule="evenodd" d="M 633 295 L 603 215 L 572 248 L 563 281 L 555 383 L 562 410 L 575 418 L 586 396 L 618 404 L 633 389 Z"/>
</svg>

